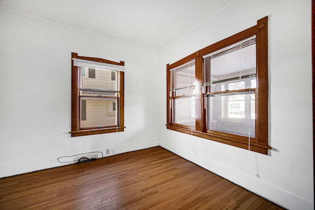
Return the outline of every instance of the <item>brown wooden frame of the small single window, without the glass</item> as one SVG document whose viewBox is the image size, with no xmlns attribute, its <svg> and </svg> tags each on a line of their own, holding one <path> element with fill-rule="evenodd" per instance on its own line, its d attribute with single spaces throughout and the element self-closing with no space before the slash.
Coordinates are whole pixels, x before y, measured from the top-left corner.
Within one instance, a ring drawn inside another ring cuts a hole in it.
<svg viewBox="0 0 315 210">
<path fill-rule="evenodd" d="M 101 63 L 108 63 L 114 65 L 121 65 L 125 66 L 124 61 L 115 62 L 111 60 L 105 60 L 100 58 L 91 58 L 91 57 L 84 57 L 78 56 L 77 53 L 71 53 L 71 137 L 76 136 L 86 136 L 86 135 L 94 135 L 94 134 L 102 134 L 102 133 L 113 133 L 113 132 L 121 132 L 124 131 L 124 72 L 119 72 L 119 84 L 120 84 L 120 92 L 119 97 L 117 98 L 118 107 L 118 123 L 115 127 L 92 127 L 92 128 L 80 128 L 80 103 L 79 103 L 79 75 L 78 75 L 78 66 L 73 65 L 72 59 L 81 59 L 81 60 L 90 60 L 95 62 Z"/>
</svg>

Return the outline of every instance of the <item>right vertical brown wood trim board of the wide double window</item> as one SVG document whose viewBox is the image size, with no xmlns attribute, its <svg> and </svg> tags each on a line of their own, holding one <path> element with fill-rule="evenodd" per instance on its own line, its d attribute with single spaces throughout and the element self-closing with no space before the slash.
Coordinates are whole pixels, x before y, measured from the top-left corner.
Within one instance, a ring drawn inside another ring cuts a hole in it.
<svg viewBox="0 0 315 210">
<path fill-rule="evenodd" d="M 257 21 L 256 30 L 256 143 L 268 145 L 268 16 Z"/>
</svg>

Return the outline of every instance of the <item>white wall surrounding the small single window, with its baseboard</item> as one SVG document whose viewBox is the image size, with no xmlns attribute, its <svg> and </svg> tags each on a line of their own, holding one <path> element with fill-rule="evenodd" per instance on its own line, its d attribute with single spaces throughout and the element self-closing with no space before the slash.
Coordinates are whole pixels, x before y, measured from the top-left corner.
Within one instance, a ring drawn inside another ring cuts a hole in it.
<svg viewBox="0 0 315 210">
<path fill-rule="evenodd" d="M 0 177 L 159 145 L 158 51 L 1 9 L 0 29 Z M 125 61 L 124 132 L 70 137 L 71 52 Z"/>
</svg>

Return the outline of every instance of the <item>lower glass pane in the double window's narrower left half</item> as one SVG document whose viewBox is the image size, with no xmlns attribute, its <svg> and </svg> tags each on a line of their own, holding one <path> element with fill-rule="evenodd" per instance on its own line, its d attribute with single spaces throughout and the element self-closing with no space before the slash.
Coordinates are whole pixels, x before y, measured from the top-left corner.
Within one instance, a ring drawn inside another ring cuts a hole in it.
<svg viewBox="0 0 315 210">
<path fill-rule="evenodd" d="M 174 123 L 195 127 L 195 97 L 174 98 Z"/>
</svg>

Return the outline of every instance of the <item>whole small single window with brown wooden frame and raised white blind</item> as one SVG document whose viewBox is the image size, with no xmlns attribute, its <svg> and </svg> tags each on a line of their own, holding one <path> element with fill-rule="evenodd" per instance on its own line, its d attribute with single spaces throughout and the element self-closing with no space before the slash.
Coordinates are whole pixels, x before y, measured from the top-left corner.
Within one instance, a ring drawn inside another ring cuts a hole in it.
<svg viewBox="0 0 315 210">
<path fill-rule="evenodd" d="M 124 65 L 72 53 L 71 137 L 124 131 Z"/>
</svg>

